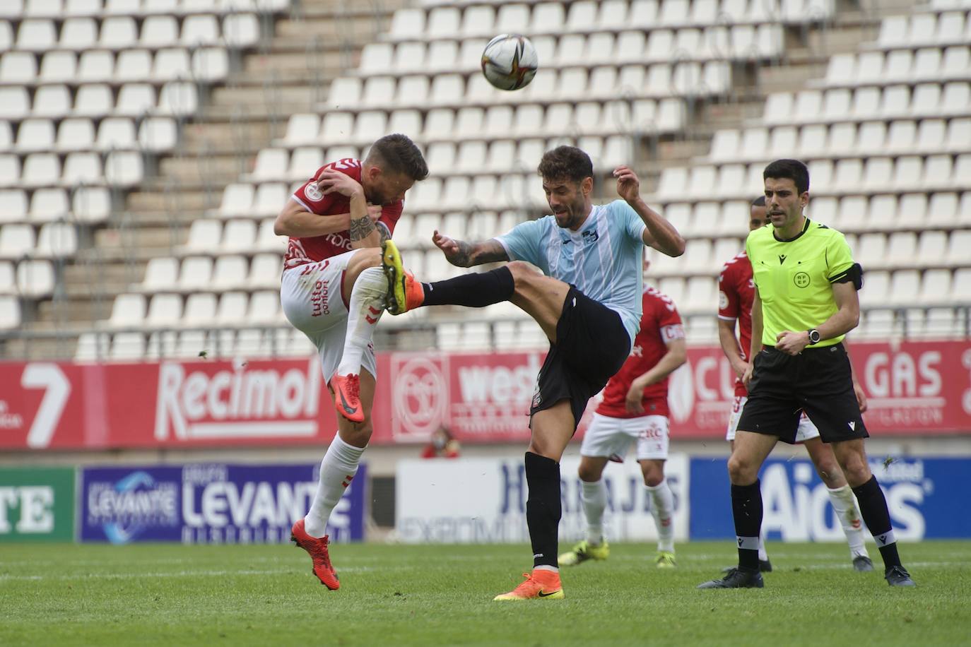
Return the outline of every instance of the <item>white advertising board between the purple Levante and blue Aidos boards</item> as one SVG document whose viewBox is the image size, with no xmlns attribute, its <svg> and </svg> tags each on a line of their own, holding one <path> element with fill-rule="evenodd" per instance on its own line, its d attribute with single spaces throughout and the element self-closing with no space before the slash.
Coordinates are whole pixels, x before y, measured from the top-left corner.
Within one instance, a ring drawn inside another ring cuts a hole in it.
<svg viewBox="0 0 971 647">
<path fill-rule="evenodd" d="M 577 476 L 580 460 L 560 463 L 563 542 L 584 536 L 586 518 Z M 687 458 L 673 454 L 665 465 L 674 492 L 675 538 L 687 538 Z M 632 458 L 604 470 L 607 509 L 604 532 L 610 540 L 657 537 L 651 499 L 641 468 Z M 398 462 L 396 531 L 410 543 L 494 543 L 528 541 L 526 474 L 522 459 L 409 460 Z"/>
</svg>

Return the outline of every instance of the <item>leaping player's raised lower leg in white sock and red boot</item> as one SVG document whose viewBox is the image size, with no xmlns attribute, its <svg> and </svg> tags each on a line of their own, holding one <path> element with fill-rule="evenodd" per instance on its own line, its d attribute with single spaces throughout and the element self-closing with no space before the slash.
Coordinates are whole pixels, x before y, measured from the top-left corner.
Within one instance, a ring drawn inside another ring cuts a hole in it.
<svg viewBox="0 0 971 647">
<path fill-rule="evenodd" d="M 352 422 L 364 422 L 360 402 L 361 357 L 374 340 L 384 313 L 387 280 L 381 268 L 367 268 L 354 281 L 348 306 L 348 334 L 337 372 L 330 379 L 337 412 Z"/>
</svg>

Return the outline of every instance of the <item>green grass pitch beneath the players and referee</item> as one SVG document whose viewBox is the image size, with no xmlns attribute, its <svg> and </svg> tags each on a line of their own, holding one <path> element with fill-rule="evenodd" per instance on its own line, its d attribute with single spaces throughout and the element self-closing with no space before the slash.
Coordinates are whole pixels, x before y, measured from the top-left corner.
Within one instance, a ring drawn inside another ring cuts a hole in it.
<svg viewBox="0 0 971 647">
<path fill-rule="evenodd" d="M 916 589 L 854 572 L 844 544 L 770 543 L 765 589 L 697 591 L 731 542 L 653 546 L 564 569 L 563 600 L 493 602 L 524 545 L 338 545 L 329 592 L 292 547 L 0 546 L 0 645 L 958 645 L 971 642 L 971 542 L 903 544 Z"/>
</svg>

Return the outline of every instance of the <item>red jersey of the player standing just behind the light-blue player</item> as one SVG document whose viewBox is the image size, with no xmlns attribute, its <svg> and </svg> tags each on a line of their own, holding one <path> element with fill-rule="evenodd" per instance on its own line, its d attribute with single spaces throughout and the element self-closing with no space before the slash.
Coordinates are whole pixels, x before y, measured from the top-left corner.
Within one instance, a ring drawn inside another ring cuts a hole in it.
<svg viewBox="0 0 971 647">
<path fill-rule="evenodd" d="M 612 418 L 668 415 L 667 377 L 644 389 L 641 400 L 641 404 L 644 404 L 644 413 L 631 413 L 624 406 L 631 382 L 651 371 L 653 366 L 664 357 L 669 341 L 685 339 L 681 315 L 678 314 L 678 308 L 670 297 L 661 294 L 653 287 L 648 287 L 644 290 L 643 306 L 641 330 L 634 338 L 630 357 L 604 388 L 603 402 L 597 406 L 597 413 L 600 415 Z"/>
</svg>

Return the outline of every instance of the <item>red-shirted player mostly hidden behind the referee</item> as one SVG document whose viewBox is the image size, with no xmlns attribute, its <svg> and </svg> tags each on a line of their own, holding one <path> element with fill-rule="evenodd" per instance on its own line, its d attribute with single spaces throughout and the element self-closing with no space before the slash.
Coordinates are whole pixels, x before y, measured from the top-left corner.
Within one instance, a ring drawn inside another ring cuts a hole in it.
<svg viewBox="0 0 971 647">
<path fill-rule="evenodd" d="M 768 222 L 765 214 L 765 197 L 756 198 L 751 206 L 749 230 L 754 231 Z M 735 444 L 735 431 L 742 414 L 742 407 L 748 400 L 749 392 L 742 383 L 742 375 L 749 367 L 749 350 L 752 348 L 752 302 L 754 298 L 754 282 L 752 277 L 752 263 L 743 251 L 735 258 L 725 263 L 719 276 L 719 341 L 721 350 L 731 364 L 736 374 L 735 402 L 732 405 L 731 417 L 728 420 L 726 439 Z M 738 334 L 741 345 L 735 337 L 735 321 L 738 321 Z M 846 341 L 844 341 L 846 343 Z M 866 410 L 866 396 L 856 383 L 854 377 L 854 391 L 859 403 L 860 411 Z M 829 490 L 829 501 L 833 504 L 836 516 L 843 526 L 850 544 L 850 558 L 856 570 L 873 570 L 873 562 L 866 552 L 863 526 L 860 522 L 859 509 L 853 490 L 847 483 L 843 470 L 840 469 L 832 448 L 820 439 L 820 430 L 803 412 L 799 420 L 796 440 L 802 442 L 822 482 Z M 765 552 L 765 539 L 758 537 L 758 567 L 759 570 L 772 570 L 772 564 Z"/>
</svg>

